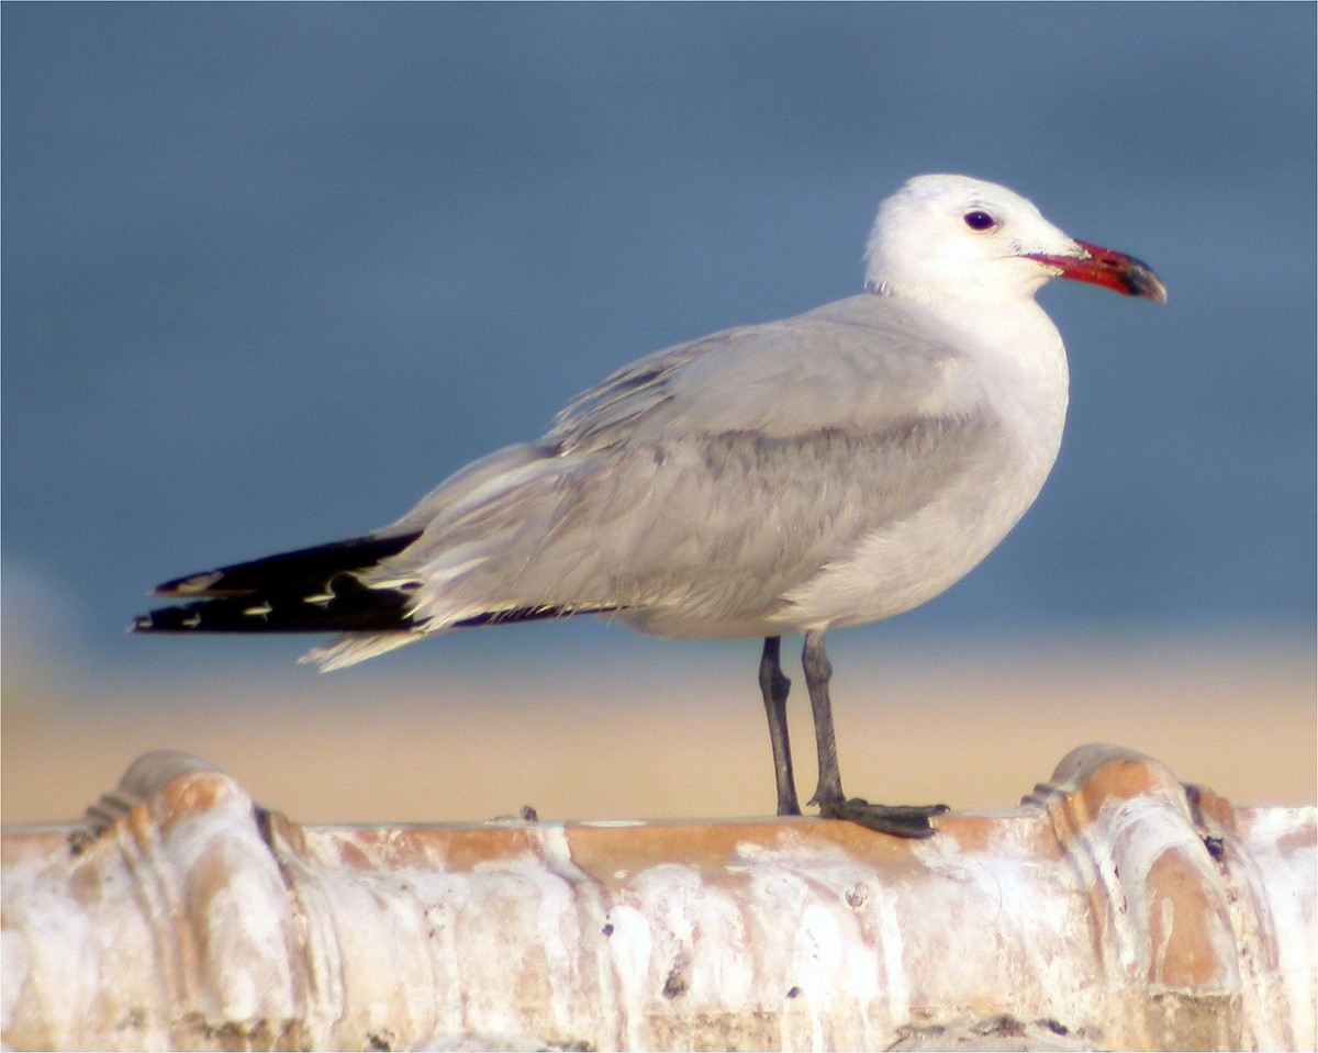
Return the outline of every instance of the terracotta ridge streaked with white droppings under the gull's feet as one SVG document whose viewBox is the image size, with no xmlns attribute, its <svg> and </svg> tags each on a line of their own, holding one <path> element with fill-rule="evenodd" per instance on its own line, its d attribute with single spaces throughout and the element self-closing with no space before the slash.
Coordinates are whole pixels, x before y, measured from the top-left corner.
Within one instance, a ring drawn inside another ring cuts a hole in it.
<svg viewBox="0 0 1318 1053">
<path fill-rule="evenodd" d="M 105 1049 L 1313 1049 L 1315 809 L 1114 746 L 928 841 L 301 826 L 148 754 L 3 838 L 3 1037 Z"/>
</svg>

